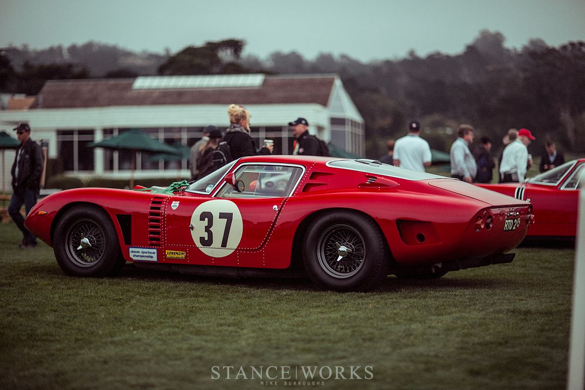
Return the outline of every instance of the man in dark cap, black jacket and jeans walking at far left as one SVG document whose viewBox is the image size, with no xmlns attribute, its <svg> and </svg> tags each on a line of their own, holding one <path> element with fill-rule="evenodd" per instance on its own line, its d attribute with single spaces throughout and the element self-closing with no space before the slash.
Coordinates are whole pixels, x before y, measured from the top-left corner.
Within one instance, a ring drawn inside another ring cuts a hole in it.
<svg viewBox="0 0 585 390">
<path fill-rule="evenodd" d="M 25 205 L 26 215 L 35 206 L 40 190 L 40 176 L 43 171 L 43 153 L 39 144 L 30 139 L 30 127 L 20 123 L 14 128 L 18 134 L 20 146 L 16 149 L 14 164 L 12 165 L 12 198 L 8 206 L 8 213 L 22 232 L 20 249 L 36 247 L 36 237 L 25 227 L 25 219 L 20 214 L 20 208 Z"/>
</svg>

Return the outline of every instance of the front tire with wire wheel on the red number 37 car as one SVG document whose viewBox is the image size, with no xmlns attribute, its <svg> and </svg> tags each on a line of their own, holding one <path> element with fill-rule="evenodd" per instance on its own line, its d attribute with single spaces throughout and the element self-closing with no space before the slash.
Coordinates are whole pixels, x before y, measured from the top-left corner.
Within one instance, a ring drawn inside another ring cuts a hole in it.
<svg viewBox="0 0 585 390">
<path fill-rule="evenodd" d="M 86 238 L 82 247 L 81 240 Z M 112 220 L 104 210 L 76 206 L 57 223 L 53 237 L 57 263 L 67 275 L 113 275 L 126 263 Z"/>
</svg>

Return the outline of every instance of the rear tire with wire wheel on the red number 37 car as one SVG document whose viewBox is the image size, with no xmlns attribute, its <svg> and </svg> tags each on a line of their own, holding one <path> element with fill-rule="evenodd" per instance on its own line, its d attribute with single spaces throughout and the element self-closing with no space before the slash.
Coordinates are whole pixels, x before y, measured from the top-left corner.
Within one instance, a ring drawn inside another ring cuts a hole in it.
<svg viewBox="0 0 585 390">
<path fill-rule="evenodd" d="M 376 223 L 359 213 L 333 211 L 307 229 L 302 260 L 311 280 L 323 289 L 368 291 L 388 276 L 384 237 Z"/>
</svg>

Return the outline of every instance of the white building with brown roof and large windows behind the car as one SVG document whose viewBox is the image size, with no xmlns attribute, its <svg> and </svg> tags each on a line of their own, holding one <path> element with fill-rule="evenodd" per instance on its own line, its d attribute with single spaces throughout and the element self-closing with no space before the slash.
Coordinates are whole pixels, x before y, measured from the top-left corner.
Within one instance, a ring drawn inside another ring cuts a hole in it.
<svg viewBox="0 0 585 390">
<path fill-rule="evenodd" d="M 0 110 L 0 130 L 27 122 L 35 140 L 49 140 L 49 158 L 59 158 L 68 175 L 128 177 L 130 153 L 91 149 L 87 144 L 128 129 L 191 146 L 202 129 L 229 125 L 228 105 L 252 113 L 252 137 L 259 146 L 273 139 L 275 153 L 291 154 L 288 122 L 309 122 L 309 133 L 358 156 L 364 154 L 364 121 L 336 75 L 203 75 L 132 79 L 47 81 L 27 109 Z M 7 151 L 11 167 L 13 152 Z M 136 177 L 189 177 L 187 161 L 150 161 L 138 153 Z M 181 167 L 178 167 L 181 164 Z M 9 174 L 8 174 L 9 175 Z"/>
</svg>

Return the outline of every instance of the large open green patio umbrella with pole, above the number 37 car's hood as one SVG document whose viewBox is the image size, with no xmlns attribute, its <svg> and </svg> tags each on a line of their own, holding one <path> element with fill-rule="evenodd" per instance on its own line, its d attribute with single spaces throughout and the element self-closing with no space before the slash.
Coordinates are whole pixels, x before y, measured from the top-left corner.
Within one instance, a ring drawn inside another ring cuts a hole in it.
<svg viewBox="0 0 585 390">
<path fill-rule="evenodd" d="M 99 142 L 88 144 L 89 147 L 104 147 L 114 150 L 130 150 L 132 152 L 132 167 L 130 168 L 130 188 L 134 187 L 134 168 L 137 151 L 160 152 L 179 154 L 174 147 L 152 139 L 139 129 L 131 129 L 122 134 Z"/>
</svg>

